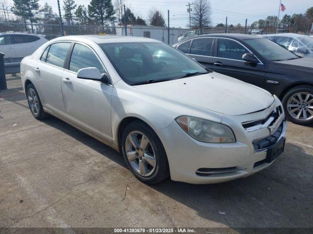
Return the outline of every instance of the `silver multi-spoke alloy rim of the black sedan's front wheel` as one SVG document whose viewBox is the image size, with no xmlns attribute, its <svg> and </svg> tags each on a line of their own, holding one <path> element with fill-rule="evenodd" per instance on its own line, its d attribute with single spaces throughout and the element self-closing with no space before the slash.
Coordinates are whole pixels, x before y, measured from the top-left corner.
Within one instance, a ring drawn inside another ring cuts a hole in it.
<svg viewBox="0 0 313 234">
<path fill-rule="evenodd" d="M 307 92 L 292 95 L 288 99 L 287 110 L 291 117 L 297 120 L 313 119 L 313 95 Z"/>
</svg>

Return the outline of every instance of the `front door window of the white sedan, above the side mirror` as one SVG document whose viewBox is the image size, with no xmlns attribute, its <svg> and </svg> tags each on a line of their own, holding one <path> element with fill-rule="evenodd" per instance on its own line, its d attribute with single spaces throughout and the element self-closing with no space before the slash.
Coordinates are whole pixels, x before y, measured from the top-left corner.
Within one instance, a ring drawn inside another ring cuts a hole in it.
<svg viewBox="0 0 313 234">
<path fill-rule="evenodd" d="M 77 72 L 86 67 L 96 67 L 101 73 L 104 72 L 103 66 L 97 56 L 87 47 L 75 44 L 69 62 L 69 70 Z"/>
</svg>

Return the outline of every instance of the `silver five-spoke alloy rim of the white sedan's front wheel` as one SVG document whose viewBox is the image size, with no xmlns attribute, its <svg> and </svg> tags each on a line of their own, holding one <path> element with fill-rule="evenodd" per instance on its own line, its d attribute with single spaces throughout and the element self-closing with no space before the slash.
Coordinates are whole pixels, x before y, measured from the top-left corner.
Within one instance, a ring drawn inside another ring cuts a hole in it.
<svg viewBox="0 0 313 234">
<path fill-rule="evenodd" d="M 125 142 L 126 156 L 135 172 L 150 176 L 156 169 L 156 155 L 148 137 L 139 131 L 128 134 Z"/>
</svg>

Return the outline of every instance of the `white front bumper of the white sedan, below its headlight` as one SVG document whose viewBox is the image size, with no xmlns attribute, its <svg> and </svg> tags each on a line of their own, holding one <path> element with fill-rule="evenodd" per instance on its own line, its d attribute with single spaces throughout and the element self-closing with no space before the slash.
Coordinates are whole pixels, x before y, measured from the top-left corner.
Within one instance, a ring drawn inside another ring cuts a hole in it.
<svg viewBox="0 0 313 234">
<path fill-rule="evenodd" d="M 274 109 L 274 106 L 272 108 Z M 248 115 L 250 117 L 225 117 L 224 123 L 229 125 L 236 135 L 235 143 L 200 142 L 187 135 L 175 120 L 166 128 L 156 130 L 168 157 L 171 179 L 193 184 L 220 183 L 250 176 L 267 168 L 273 161 L 264 162 L 267 150 L 256 151 L 253 141 L 270 136 L 270 130 L 247 132 L 241 123 L 251 117 L 266 116 L 268 111 L 270 110 L 253 113 Z M 282 126 L 282 131 L 276 142 L 286 133 L 284 118 L 281 118 L 278 124 Z"/>
</svg>

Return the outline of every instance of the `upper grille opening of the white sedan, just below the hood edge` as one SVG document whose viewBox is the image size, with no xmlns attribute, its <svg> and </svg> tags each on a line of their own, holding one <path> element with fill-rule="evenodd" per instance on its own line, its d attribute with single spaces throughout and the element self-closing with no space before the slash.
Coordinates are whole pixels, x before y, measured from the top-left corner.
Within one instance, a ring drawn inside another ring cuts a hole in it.
<svg viewBox="0 0 313 234">
<path fill-rule="evenodd" d="M 271 126 L 273 123 L 275 123 L 277 118 L 282 114 L 283 114 L 283 109 L 281 106 L 278 106 L 268 115 L 268 117 L 264 119 L 244 122 L 242 123 L 242 125 L 247 132 L 252 132 L 255 130 L 262 129 L 262 128 L 267 128 L 268 126 Z"/>
</svg>

